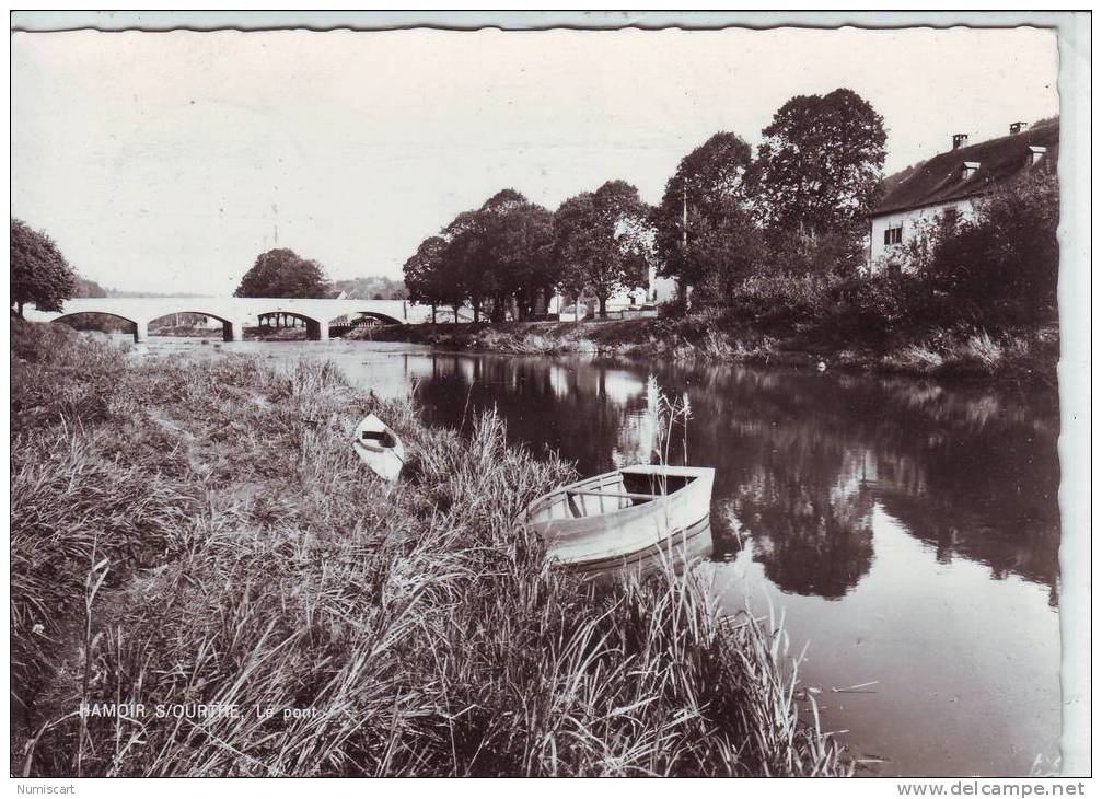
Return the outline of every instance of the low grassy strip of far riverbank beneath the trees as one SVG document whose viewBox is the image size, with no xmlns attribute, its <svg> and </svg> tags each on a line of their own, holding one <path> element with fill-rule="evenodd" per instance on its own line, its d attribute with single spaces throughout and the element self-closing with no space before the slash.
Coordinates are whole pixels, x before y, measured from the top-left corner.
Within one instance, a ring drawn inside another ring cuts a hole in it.
<svg viewBox="0 0 1102 799">
<path fill-rule="evenodd" d="M 409 325 L 377 339 L 450 349 L 818 367 L 917 377 L 1056 385 L 1055 327 L 987 331 L 965 325 L 896 335 L 815 336 L 738 323 L 705 311 L 681 318 Z"/>
</svg>

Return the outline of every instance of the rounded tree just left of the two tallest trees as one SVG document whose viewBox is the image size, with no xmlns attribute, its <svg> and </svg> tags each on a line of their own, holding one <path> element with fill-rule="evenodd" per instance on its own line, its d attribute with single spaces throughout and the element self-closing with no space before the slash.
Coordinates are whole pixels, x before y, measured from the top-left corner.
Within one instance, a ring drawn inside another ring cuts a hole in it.
<svg viewBox="0 0 1102 799">
<path fill-rule="evenodd" d="M 561 284 L 573 298 L 583 292 L 607 315 L 608 298 L 619 289 L 646 287 L 653 248 L 650 209 L 635 186 L 609 181 L 596 192 L 564 202 L 554 215 L 554 255 Z"/>
</svg>

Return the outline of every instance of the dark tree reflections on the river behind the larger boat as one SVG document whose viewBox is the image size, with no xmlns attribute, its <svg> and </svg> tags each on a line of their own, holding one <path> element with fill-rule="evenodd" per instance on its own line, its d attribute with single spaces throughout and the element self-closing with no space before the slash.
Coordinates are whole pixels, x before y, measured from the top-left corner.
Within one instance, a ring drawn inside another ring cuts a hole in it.
<svg viewBox="0 0 1102 799">
<path fill-rule="evenodd" d="M 656 392 L 687 392 L 693 415 L 670 460 L 683 460 L 684 440 L 694 465 L 716 468 L 714 557 L 750 546 L 784 591 L 836 600 L 857 585 L 879 507 L 928 547 L 931 566 L 964 558 L 1056 596 L 1055 396 L 735 366 L 431 357 L 417 390 L 431 421 L 458 427 L 464 412 L 496 407 L 514 440 L 583 474 L 653 462 Z"/>
</svg>

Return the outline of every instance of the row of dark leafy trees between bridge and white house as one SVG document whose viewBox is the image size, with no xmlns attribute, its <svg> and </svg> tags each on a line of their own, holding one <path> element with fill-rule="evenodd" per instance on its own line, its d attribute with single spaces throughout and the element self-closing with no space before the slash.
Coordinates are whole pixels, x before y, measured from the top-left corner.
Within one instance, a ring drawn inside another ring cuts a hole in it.
<svg viewBox="0 0 1102 799">
<path fill-rule="evenodd" d="M 404 266 L 411 296 L 501 321 L 545 313 L 561 291 L 604 316 L 617 291 L 647 287 L 651 266 L 713 296 L 766 262 L 855 273 L 883 182 L 883 118 L 838 89 L 793 97 L 761 134 L 755 158 L 736 133 L 715 133 L 681 160 L 657 206 L 623 180 L 554 213 L 503 190 L 421 244 Z"/>
</svg>

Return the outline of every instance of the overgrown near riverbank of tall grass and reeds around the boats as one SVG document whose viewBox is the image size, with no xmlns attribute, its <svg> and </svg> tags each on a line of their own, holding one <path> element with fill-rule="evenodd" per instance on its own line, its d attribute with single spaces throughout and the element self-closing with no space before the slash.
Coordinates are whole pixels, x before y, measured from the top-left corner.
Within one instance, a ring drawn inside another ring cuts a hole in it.
<svg viewBox="0 0 1102 799">
<path fill-rule="evenodd" d="M 847 771 L 782 638 L 695 579 L 543 566 L 515 517 L 570 469 L 496 418 L 430 429 L 327 364 L 11 333 L 13 773 Z M 392 488 L 348 445 L 371 410 L 413 453 Z M 155 717 L 186 703 L 241 713 Z"/>
</svg>

